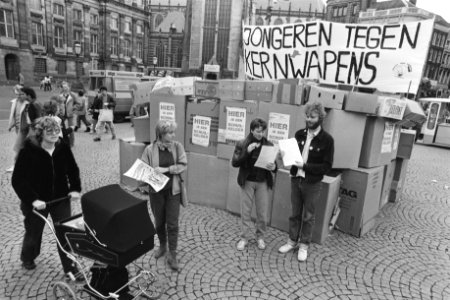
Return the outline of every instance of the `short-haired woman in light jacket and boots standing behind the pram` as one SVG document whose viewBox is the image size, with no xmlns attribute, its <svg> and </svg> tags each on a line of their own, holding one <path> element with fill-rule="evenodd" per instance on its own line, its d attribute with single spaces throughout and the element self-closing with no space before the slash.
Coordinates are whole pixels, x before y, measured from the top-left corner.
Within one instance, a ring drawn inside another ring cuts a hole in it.
<svg viewBox="0 0 450 300">
<path fill-rule="evenodd" d="M 141 159 L 169 177 L 169 182 L 159 192 L 149 185 L 150 206 L 155 217 L 155 228 L 160 247 L 155 253 L 158 259 L 167 252 L 167 263 L 172 270 L 178 271 L 178 219 L 181 204 L 180 176 L 186 170 L 187 158 L 184 147 L 175 141 L 177 124 L 171 121 L 159 121 L 156 125 L 156 140 L 147 146 Z"/>
</svg>

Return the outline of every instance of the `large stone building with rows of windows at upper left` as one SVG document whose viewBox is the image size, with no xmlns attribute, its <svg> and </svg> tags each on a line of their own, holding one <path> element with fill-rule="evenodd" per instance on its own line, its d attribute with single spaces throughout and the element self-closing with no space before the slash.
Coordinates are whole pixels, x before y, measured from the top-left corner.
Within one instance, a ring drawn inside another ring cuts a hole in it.
<svg viewBox="0 0 450 300">
<path fill-rule="evenodd" d="M 149 65 L 147 0 L 0 1 L 0 82 L 21 72 L 83 77 L 90 69 L 145 71 Z M 77 53 L 77 50 L 80 50 Z"/>
</svg>

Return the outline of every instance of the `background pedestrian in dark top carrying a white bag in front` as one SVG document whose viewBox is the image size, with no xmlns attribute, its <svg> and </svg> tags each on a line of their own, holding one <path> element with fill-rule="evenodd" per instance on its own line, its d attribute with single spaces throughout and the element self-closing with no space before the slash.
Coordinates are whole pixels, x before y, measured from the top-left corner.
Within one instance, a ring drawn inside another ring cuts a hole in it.
<svg viewBox="0 0 450 300">
<path fill-rule="evenodd" d="M 116 107 L 116 102 L 114 101 L 114 98 L 108 94 L 108 89 L 105 86 L 102 86 L 100 88 L 100 95 L 98 95 L 97 98 L 94 99 L 94 103 L 92 104 L 94 112 L 99 113 L 97 125 L 95 126 L 97 136 L 94 138 L 94 142 L 101 141 L 101 135 L 106 125 L 108 125 L 109 129 L 111 130 L 111 138 L 113 140 L 116 138 L 116 132 L 114 130 L 113 124 L 114 107 Z M 105 114 L 105 116 L 108 117 L 104 118 L 102 114 Z"/>
</svg>

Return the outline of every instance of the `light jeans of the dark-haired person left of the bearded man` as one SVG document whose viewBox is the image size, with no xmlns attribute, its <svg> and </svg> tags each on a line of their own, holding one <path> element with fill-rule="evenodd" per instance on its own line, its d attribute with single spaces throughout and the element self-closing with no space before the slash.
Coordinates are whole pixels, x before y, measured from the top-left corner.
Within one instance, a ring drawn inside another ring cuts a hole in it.
<svg viewBox="0 0 450 300">
<path fill-rule="evenodd" d="M 245 181 L 240 190 L 241 198 L 241 238 L 248 240 L 252 231 L 253 201 L 256 205 L 256 238 L 264 239 L 267 226 L 267 207 L 269 206 L 269 188 L 267 182 Z"/>
</svg>

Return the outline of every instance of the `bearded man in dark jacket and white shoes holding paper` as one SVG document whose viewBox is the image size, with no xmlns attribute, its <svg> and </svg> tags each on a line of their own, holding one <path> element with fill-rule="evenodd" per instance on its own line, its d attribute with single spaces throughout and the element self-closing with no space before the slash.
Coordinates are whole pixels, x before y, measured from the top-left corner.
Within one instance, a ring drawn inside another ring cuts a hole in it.
<svg viewBox="0 0 450 300">
<path fill-rule="evenodd" d="M 306 128 L 295 133 L 301 157 L 290 170 L 292 215 L 289 218 L 289 240 L 278 250 L 280 253 L 287 253 L 300 243 L 297 256 L 299 261 L 305 261 L 308 257 L 315 222 L 315 204 L 320 197 L 322 178 L 330 171 L 334 155 L 333 137 L 321 126 L 326 116 L 322 104 L 308 103 L 305 114 Z M 284 160 L 291 153 L 286 153 L 282 144 L 280 142 Z"/>
</svg>

